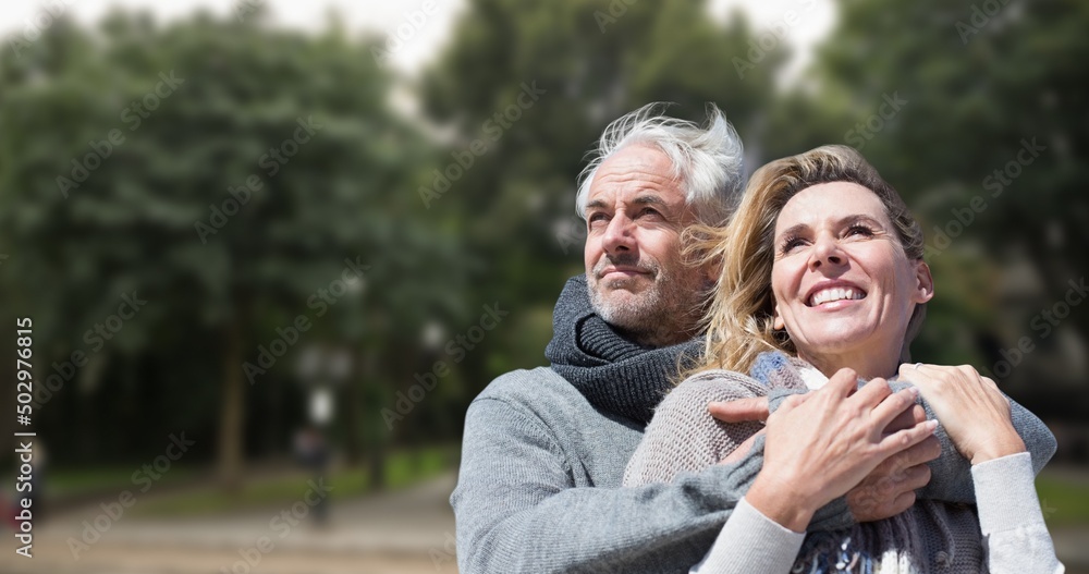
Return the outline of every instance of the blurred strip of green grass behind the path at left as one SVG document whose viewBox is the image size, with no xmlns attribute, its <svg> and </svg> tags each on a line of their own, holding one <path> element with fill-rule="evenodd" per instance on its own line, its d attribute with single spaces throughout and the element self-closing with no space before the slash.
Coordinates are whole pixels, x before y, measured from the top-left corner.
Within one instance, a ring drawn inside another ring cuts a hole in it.
<svg viewBox="0 0 1089 574">
<path fill-rule="evenodd" d="M 409 486 L 416 481 L 439 475 L 452 467 L 455 449 L 451 447 L 430 447 L 411 451 L 396 451 L 389 455 L 386 462 L 386 486 L 396 489 Z M 245 510 L 257 510 L 284 501 L 302 500 L 310 489 L 307 484 L 313 476 L 305 472 L 278 474 L 267 478 L 252 477 L 236 492 L 224 492 L 212 483 L 193 483 L 195 469 L 171 469 L 157 481 L 147 493 L 132 488 L 131 471 L 95 469 L 79 473 L 66 473 L 50 477 L 50 489 L 53 492 L 73 493 L 118 488 L 118 492 L 129 488 L 136 497 L 132 508 L 133 515 L 155 517 L 197 516 L 218 513 L 230 513 Z M 189 485 L 169 493 L 157 494 L 161 483 L 168 476 L 175 484 Z M 364 468 L 341 468 L 327 475 L 326 485 L 332 487 L 331 496 L 344 500 L 372 490 L 372 480 Z M 118 485 L 123 485 L 118 487 Z"/>
</svg>

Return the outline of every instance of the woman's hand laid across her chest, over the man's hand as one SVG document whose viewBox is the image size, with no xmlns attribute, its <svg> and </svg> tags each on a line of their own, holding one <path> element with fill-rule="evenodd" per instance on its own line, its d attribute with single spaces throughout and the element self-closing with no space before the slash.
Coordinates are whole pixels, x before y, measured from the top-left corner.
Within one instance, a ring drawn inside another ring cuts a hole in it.
<svg viewBox="0 0 1089 574">
<path fill-rule="evenodd" d="M 914 388 L 893 393 L 884 379 L 857 386 L 855 371 L 841 369 L 819 391 L 786 399 L 768 418 L 763 468 L 745 494 L 749 504 L 804 532 L 817 509 L 846 493 L 889 456 L 933 433 L 933 420 L 884 432 L 915 405 Z"/>
</svg>

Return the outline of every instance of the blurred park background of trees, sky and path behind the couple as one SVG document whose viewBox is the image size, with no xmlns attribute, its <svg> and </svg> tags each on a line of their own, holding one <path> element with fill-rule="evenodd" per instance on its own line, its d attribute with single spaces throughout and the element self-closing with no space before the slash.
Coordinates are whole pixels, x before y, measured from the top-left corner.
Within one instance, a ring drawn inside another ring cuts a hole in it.
<svg viewBox="0 0 1089 574">
<path fill-rule="evenodd" d="M 0 571 L 456 572 L 465 410 L 546 364 L 584 155 L 669 101 L 721 107 L 749 172 L 842 143 L 904 195 L 915 357 L 1048 423 L 1089 572 L 1087 28 L 1075 0 L 8 7 L 0 325 L 34 383 L 0 369 Z"/>
</svg>

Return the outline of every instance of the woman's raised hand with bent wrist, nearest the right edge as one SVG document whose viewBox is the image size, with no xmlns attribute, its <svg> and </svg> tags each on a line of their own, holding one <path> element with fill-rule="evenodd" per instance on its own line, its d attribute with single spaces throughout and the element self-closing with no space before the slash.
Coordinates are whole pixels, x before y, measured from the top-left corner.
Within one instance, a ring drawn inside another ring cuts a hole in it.
<svg viewBox="0 0 1089 574">
<path fill-rule="evenodd" d="M 1010 401 L 972 367 L 900 366 L 900 378 L 919 388 L 960 454 L 979 464 L 1025 452 L 1010 419 Z"/>
</svg>

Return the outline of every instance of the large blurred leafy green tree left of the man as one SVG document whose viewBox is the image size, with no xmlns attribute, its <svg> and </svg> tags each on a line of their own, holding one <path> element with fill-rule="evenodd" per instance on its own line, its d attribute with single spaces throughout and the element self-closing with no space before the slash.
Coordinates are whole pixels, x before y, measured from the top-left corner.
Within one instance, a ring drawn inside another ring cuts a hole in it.
<svg viewBox="0 0 1089 574">
<path fill-rule="evenodd" d="M 369 46 L 338 28 L 271 30 L 246 10 L 167 28 L 114 13 L 97 33 L 62 21 L 3 52 L 5 301 L 35 309 L 39 368 L 90 357 L 76 369 L 82 392 L 66 381 L 39 420 L 64 426 L 105 389 L 117 393 L 106 412 L 75 419 L 100 425 L 70 432 L 129 445 L 151 436 L 161 449 L 163 418 L 191 436 L 216 428 L 219 474 L 234 485 L 245 430 L 287 431 L 247 424 L 246 405 L 293 406 L 255 403 L 246 388 L 291 382 L 296 342 L 346 338 L 378 357 L 370 384 L 406 376 L 423 326 L 460 308 L 461 255 L 449 229 L 416 217 L 413 182 L 432 151 L 389 108 L 392 78 Z M 121 313 L 125 297 L 146 303 Z M 170 386 L 159 404 L 125 410 Z M 381 405 L 358 412 L 369 392 L 347 393 L 360 428 L 345 432 L 381 442 L 362 428 L 381 425 Z M 110 435 L 110 418 L 137 426 Z"/>
</svg>

